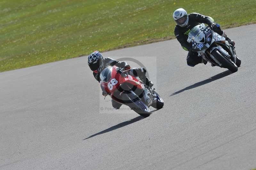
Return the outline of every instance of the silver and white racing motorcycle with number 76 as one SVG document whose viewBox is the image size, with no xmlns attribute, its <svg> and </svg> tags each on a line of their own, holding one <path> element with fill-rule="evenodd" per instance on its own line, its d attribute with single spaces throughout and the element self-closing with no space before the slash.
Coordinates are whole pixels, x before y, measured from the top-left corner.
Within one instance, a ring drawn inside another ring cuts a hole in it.
<svg viewBox="0 0 256 170">
<path fill-rule="evenodd" d="M 187 41 L 191 43 L 193 51 L 198 52 L 199 56 L 213 66 L 227 68 L 234 73 L 241 65 L 235 47 L 230 45 L 225 37 L 215 33 L 204 24 L 193 27 L 188 34 Z"/>
</svg>

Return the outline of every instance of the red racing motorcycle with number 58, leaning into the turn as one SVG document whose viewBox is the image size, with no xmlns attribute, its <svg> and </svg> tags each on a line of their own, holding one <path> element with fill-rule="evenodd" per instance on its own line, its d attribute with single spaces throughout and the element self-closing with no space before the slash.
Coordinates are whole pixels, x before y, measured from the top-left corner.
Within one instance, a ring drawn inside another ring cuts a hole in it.
<svg viewBox="0 0 256 170">
<path fill-rule="evenodd" d="M 164 100 L 137 77 L 129 75 L 130 69 L 109 66 L 100 73 L 100 84 L 113 100 L 129 106 L 141 116 L 150 115 L 149 107 L 161 109 Z"/>
</svg>

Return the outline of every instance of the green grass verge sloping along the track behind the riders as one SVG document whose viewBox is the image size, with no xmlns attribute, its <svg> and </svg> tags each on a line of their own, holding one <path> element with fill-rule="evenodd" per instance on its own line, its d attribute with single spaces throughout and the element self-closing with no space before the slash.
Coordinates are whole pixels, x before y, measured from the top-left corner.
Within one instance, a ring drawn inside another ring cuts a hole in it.
<svg viewBox="0 0 256 170">
<path fill-rule="evenodd" d="M 256 23 L 255 0 L 2 0 L 0 72 L 172 39 L 180 7 L 222 28 Z"/>
</svg>

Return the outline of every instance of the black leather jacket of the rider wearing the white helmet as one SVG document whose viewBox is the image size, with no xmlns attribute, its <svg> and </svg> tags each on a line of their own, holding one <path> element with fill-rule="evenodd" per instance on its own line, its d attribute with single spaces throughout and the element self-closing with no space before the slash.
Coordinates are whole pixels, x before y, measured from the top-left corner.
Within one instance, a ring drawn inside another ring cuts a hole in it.
<svg viewBox="0 0 256 170">
<path fill-rule="evenodd" d="M 174 29 L 174 35 L 176 36 L 177 40 L 180 42 L 182 48 L 184 50 L 189 51 L 190 44 L 187 42 L 187 39 L 188 39 L 188 33 L 190 29 L 199 25 L 199 23 L 204 23 L 209 25 L 211 22 L 213 22 L 213 19 L 211 17 L 204 16 L 199 13 L 188 14 L 188 26 L 180 27 L 179 25 L 176 25 Z"/>
</svg>

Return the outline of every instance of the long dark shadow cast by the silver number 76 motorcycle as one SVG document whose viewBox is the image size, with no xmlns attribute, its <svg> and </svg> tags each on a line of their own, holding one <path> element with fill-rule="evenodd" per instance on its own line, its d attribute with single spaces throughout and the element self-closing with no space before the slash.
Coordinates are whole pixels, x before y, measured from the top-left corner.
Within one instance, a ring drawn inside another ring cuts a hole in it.
<svg viewBox="0 0 256 170">
<path fill-rule="evenodd" d="M 228 75 L 230 75 L 230 74 L 232 74 L 231 71 L 229 71 L 229 70 L 224 71 L 224 72 L 222 72 L 222 73 L 219 73 L 219 74 L 216 74 L 215 76 L 210 77 L 209 79 L 206 79 L 206 80 L 204 80 L 204 81 L 197 82 L 197 83 L 195 83 L 195 84 L 193 84 L 193 85 L 191 85 L 191 86 L 188 86 L 188 87 L 186 87 L 186 88 L 184 88 L 184 89 L 181 89 L 180 91 L 176 91 L 175 93 L 172 93 L 170 96 L 177 95 L 177 94 L 179 94 L 179 93 L 181 93 L 181 92 L 183 92 L 183 91 L 185 91 L 185 90 L 194 89 L 194 88 L 196 88 L 196 87 L 199 87 L 199 86 L 202 86 L 202 85 L 204 85 L 204 84 L 210 83 L 210 82 L 212 82 L 212 81 L 215 81 L 215 80 L 221 79 L 221 78 L 223 78 L 223 77 L 226 77 L 226 76 L 228 76 Z"/>
</svg>

